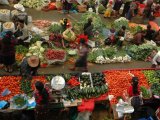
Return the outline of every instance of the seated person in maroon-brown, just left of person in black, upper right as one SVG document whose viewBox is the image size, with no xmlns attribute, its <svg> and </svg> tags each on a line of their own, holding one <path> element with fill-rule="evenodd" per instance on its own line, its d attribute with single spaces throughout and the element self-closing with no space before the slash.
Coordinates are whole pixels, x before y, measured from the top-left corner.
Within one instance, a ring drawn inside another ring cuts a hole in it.
<svg viewBox="0 0 160 120">
<path fill-rule="evenodd" d="M 144 43 L 144 36 L 145 36 L 145 31 L 137 32 L 137 33 L 134 35 L 133 43 L 136 44 L 136 45 L 141 45 L 141 44 L 143 44 L 143 43 Z"/>
</svg>

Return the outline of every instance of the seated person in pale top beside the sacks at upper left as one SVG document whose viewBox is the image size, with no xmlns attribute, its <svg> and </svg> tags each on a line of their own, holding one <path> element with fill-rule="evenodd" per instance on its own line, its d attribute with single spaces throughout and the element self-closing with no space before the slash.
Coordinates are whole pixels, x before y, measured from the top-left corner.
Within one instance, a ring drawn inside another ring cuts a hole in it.
<svg viewBox="0 0 160 120">
<path fill-rule="evenodd" d="M 18 40 L 18 44 L 24 45 L 24 41 L 28 39 L 28 28 L 24 23 L 24 20 L 19 20 L 17 29 L 14 32 L 15 37 Z"/>
</svg>

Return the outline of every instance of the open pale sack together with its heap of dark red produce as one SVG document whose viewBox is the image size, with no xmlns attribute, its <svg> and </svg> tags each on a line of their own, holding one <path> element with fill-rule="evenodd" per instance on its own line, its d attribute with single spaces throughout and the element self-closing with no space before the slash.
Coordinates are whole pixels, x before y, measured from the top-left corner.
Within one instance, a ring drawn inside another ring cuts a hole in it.
<svg viewBox="0 0 160 120">
<path fill-rule="evenodd" d="M 64 62 L 66 59 L 66 52 L 64 50 L 48 49 L 45 52 L 45 56 L 49 64 Z"/>
</svg>

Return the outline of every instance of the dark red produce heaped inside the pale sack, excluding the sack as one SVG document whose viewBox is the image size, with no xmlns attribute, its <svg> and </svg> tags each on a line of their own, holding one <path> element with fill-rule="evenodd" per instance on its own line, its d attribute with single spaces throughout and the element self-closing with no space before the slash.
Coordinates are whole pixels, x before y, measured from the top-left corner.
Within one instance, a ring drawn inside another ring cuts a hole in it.
<svg viewBox="0 0 160 120">
<path fill-rule="evenodd" d="M 65 58 L 65 55 L 66 53 L 63 50 L 48 49 L 45 52 L 45 56 L 48 60 L 55 60 L 55 59 L 63 60 Z"/>
</svg>

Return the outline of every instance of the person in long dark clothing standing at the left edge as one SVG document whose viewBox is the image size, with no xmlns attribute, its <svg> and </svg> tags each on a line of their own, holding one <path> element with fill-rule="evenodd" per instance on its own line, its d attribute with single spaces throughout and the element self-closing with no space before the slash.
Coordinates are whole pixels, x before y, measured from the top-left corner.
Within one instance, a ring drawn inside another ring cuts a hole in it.
<svg viewBox="0 0 160 120">
<path fill-rule="evenodd" d="M 12 72 L 12 65 L 15 63 L 16 40 L 11 31 L 7 31 L 4 38 L 0 41 L 1 62 L 4 64 L 6 72 Z"/>
</svg>

